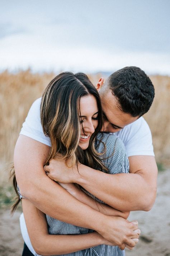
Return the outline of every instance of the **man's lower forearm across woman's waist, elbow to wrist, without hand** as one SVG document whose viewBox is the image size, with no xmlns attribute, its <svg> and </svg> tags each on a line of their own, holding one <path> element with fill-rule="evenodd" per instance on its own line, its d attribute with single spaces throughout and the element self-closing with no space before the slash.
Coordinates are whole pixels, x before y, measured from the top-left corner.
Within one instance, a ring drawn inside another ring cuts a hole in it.
<svg viewBox="0 0 170 256">
<path fill-rule="evenodd" d="M 78 201 L 46 175 L 42 174 L 38 180 L 35 177 L 29 187 L 21 187 L 20 192 L 42 212 L 58 220 L 90 229 L 98 229 L 95 219 L 103 220 L 100 212 Z"/>
</svg>

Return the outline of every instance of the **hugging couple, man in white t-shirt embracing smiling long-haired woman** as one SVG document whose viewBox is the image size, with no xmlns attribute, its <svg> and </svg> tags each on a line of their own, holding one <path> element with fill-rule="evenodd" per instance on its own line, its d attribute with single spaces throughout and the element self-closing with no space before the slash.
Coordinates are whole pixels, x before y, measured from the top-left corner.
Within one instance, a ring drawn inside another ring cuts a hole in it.
<svg viewBox="0 0 170 256">
<path fill-rule="evenodd" d="M 31 106 L 14 151 L 23 256 L 121 256 L 138 242 L 130 211 L 149 211 L 157 166 L 143 119 L 150 78 L 125 67 L 100 78 L 63 72 Z M 15 177 L 16 176 L 16 177 Z"/>
</svg>

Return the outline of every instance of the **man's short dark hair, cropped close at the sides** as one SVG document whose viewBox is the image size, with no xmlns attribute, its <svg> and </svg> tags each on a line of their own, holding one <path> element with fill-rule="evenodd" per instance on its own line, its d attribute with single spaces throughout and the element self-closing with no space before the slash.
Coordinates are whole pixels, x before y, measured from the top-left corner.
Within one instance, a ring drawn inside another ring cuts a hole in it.
<svg viewBox="0 0 170 256">
<path fill-rule="evenodd" d="M 119 69 L 107 78 L 106 86 L 112 89 L 118 107 L 133 117 L 145 114 L 155 96 L 150 78 L 138 67 Z"/>
</svg>

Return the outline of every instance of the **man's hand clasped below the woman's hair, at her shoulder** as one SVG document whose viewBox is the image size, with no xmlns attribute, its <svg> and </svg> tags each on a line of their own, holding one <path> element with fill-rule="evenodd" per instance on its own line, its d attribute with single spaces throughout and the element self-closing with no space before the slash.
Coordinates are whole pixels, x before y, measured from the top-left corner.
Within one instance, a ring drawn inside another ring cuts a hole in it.
<svg viewBox="0 0 170 256">
<path fill-rule="evenodd" d="M 61 183 L 76 183 L 77 167 L 69 167 L 69 162 L 65 160 L 57 160 L 53 158 L 49 161 L 49 165 L 45 166 L 46 174 L 52 180 L 61 182 Z"/>
</svg>

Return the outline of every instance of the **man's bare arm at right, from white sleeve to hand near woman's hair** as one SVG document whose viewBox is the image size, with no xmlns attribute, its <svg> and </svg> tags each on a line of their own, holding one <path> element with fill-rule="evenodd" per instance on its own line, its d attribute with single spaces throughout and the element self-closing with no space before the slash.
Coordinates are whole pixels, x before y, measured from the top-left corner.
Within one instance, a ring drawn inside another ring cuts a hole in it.
<svg viewBox="0 0 170 256">
<path fill-rule="evenodd" d="M 111 175 L 82 164 L 77 172 L 76 168 L 69 169 L 62 161 L 57 161 L 56 168 L 56 160 L 52 160 L 46 169 L 50 170 L 49 178 L 63 183 L 77 183 L 119 211 L 148 211 L 156 197 L 155 158 L 132 156 L 129 157 L 129 163 L 129 174 Z"/>
</svg>

